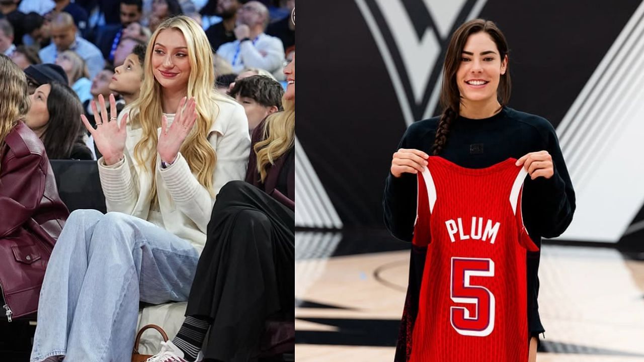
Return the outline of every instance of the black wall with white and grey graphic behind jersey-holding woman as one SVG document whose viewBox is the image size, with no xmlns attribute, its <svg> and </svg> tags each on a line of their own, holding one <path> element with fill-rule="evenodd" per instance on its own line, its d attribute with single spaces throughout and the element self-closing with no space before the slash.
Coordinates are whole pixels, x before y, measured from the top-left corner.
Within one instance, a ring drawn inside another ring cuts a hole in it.
<svg viewBox="0 0 644 362">
<path fill-rule="evenodd" d="M 639 0 L 329 0 L 299 14 L 307 24 L 299 34 L 307 117 L 297 129 L 296 226 L 384 227 L 381 196 L 397 142 L 409 124 L 439 112 L 451 32 L 482 17 L 510 44 L 509 106 L 547 118 L 560 137 L 577 196 L 561 238 L 644 236 Z"/>
</svg>

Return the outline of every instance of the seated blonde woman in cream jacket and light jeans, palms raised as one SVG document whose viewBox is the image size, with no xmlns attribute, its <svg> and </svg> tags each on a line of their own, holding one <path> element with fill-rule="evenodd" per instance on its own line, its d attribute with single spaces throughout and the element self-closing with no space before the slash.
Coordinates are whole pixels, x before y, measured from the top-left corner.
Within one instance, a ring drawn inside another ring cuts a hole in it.
<svg viewBox="0 0 644 362">
<path fill-rule="evenodd" d="M 140 97 L 96 129 L 108 214 L 71 213 L 44 278 L 31 361 L 129 361 L 139 301 L 187 300 L 211 210 L 250 151 L 242 106 L 214 91 L 204 30 L 180 16 L 147 48 Z"/>
</svg>

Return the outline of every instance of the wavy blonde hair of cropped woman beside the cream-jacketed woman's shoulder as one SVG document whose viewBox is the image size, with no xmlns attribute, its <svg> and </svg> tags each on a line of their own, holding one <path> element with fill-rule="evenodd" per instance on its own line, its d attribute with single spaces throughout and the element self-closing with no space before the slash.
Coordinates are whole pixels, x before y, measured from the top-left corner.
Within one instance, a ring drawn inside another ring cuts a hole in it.
<svg viewBox="0 0 644 362">
<path fill-rule="evenodd" d="M 269 167 L 287 153 L 295 142 L 295 100 L 282 97 L 284 110 L 270 115 L 264 124 L 264 135 L 254 146 L 257 171 L 264 182 Z"/>
</svg>

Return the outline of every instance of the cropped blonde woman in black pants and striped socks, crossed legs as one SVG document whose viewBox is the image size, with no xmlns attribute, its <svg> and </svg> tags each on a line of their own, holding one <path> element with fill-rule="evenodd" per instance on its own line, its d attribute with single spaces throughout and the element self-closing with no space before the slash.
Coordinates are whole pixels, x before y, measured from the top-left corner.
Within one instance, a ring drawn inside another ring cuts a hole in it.
<svg viewBox="0 0 644 362">
<path fill-rule="evenodd" d="M 284 73 L 284 111 L 255 129 L 246 182 L 222 187 L 184 324 L 149 362 L 254 361 L 267 318 L 294 320 L 295 58 Z M 272 345 L 294 343 L 285 325 Z"/>
</svg>

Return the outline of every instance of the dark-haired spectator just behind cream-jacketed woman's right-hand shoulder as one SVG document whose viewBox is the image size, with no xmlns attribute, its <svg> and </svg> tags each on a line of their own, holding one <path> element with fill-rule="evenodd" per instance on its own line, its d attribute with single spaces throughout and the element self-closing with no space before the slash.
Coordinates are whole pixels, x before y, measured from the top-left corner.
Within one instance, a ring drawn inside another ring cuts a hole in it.
<svg viewBox="0 0 644 362">
<path fill-rule="evenodd" d="M 252 135 L 252 131 L 268 115 L 281 111 L 284 89 L 274 79 L 253 75 L 235 82 L 228 95 L 242 104 L 248 118 L 248 130 Z"/>
</svg>

